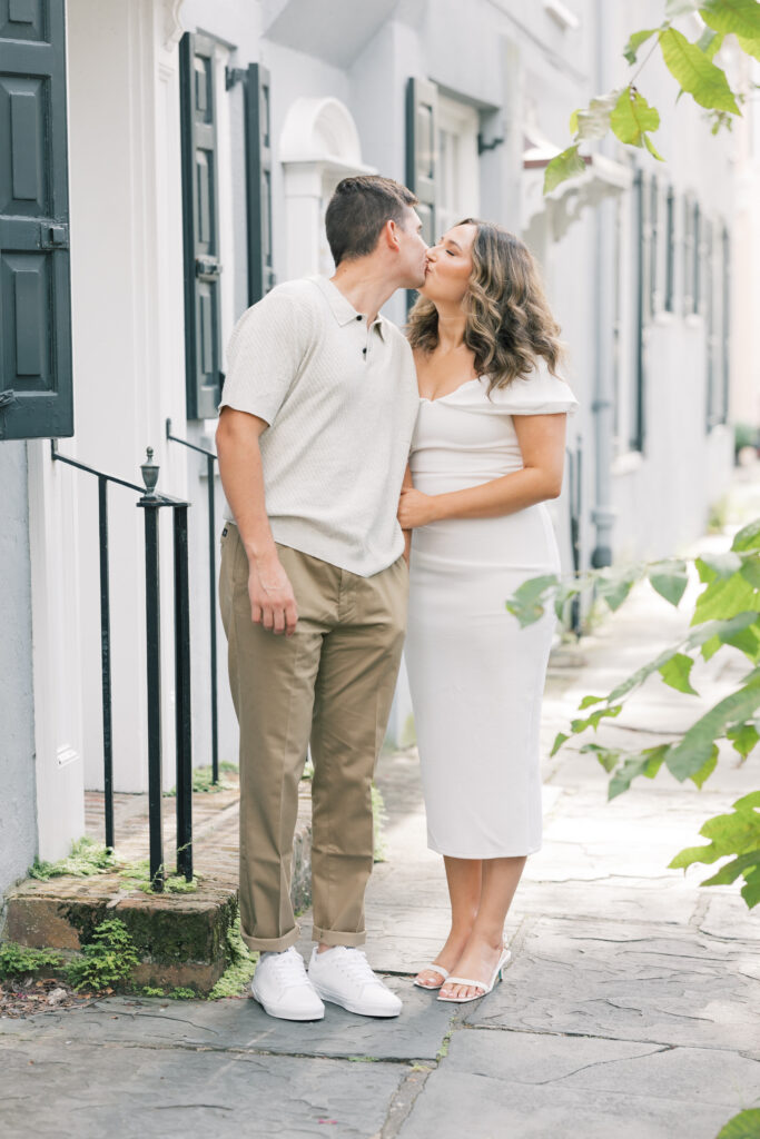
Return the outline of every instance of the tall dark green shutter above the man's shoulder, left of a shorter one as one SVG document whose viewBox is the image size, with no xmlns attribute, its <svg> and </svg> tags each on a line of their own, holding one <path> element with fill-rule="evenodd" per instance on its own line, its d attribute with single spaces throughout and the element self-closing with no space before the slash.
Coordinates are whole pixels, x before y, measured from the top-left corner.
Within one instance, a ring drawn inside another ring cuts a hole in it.
<svg viewBox="0 0 760 1139">
<path fill-rule="evenodd" d="M 216 84 L 213 41 L 180 42 L 187 418 L 216 415 L 221 391 Z"/>
</svg>

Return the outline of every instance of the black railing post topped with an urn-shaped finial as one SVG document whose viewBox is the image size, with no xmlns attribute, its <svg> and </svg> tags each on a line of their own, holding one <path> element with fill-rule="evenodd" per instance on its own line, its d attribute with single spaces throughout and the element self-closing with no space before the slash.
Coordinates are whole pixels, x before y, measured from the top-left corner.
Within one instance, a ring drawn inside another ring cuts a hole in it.
<svg viewBox="0 0 760 1139">
<path fill-rule="evenodd" d="M 161 582 L 158 559 L 158 510 L 155 493 L 158 468 L 153 466 L 153 450 L 140 468 L 146 493 L 138 506 L 145 510 L 145 620 L 148 691 L 148 826 L 150 842 L 150 885 L 164 888 L 163 830 L 161 819 Z"/>
</svg>

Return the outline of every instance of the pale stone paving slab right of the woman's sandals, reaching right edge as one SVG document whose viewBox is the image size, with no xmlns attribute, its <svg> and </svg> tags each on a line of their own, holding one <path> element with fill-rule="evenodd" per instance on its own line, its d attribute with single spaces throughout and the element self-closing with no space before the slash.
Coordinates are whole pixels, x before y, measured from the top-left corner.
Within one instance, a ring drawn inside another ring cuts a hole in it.
<svg viewBox="0 0 760 1139">
<path fill-rule="evenodd" d="M 690 928 L 542 918 L 471 1025 L 760 1049 L 758 947 Z"/>
</svg>

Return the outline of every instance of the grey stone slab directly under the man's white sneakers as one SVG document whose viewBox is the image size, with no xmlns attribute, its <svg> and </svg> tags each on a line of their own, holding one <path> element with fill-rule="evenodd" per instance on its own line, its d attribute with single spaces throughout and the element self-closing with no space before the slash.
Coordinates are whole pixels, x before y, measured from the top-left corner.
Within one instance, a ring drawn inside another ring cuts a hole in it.
<svg viewBox="0 0 760 1139">
<path fill-rule="evenodd" d="M 72 1040 L 155 1048 L 213 1048 L 299 1056 L 435 1059 L 453 1010 L 398 978 L 390 988 L 403 1000 L 398 1018 L 354 1016 L 328 1005 L 324 1021 L 296 1023 L 268 1016 L 251 999 L 162 1001 L 111 998 L 75 1013 L 46 1013 L 26 1021 L 0 1021 L 0 1041 L 54 1043 Z"/>
</svg>

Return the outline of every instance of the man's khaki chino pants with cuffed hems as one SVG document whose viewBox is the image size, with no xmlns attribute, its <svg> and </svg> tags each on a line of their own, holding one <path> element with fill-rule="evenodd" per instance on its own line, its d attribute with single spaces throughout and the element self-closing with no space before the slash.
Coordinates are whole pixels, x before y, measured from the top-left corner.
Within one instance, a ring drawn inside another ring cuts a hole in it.
<svg viewBox="0 0 760 1139">
<path fill-rule="evenodd" d="M 401 659 L 403 558 L 360 577 L 277 546 L 299 608 L 291 638 L 251 620 L 248 560 L 222 534 L 220 605 L 240 727 L 240 926 L 250 949 L 280 951 L 300 929 L 291 903 L 299 780 L 311 743 L 313 939 L 365 942 L 373 867 L 371 780 Z"/>
</svg>

